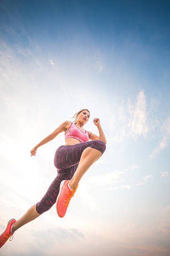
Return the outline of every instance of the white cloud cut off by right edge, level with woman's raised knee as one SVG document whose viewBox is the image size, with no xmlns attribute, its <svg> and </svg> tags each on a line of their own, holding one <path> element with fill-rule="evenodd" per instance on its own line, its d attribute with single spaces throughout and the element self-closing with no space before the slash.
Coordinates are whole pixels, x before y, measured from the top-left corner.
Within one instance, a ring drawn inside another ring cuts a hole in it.
<svg viewBox="0 0 170 256">
<path fill-rule="evenodd" d="M 162 149 L 168 146 L 168 141 L 170 139 L 170 117 L 165 119 L 160 130 L 163 134 L 162 139 L 158 144 L 158 146 L 150 154 L 150 158 L 155 158 L 155 156 L 158 154 L 159 151 L 161 151 Z"/>
</svg>

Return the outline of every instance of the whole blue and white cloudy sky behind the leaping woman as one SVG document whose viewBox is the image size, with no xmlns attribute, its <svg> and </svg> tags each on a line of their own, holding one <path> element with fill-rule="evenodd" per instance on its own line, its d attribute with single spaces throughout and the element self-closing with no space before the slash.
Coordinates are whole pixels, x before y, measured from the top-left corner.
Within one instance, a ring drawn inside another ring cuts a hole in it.
<svg viewBox="0 0 170 256">
<path fill-rule="evenodd" d="M 170 254 L 169 8 L 168 1 L 0 2 L 0 233 L 57 175 L 63 133 L 34 158 L 30 150 L 60 123 L 87 108 L 85 130 L 98 135 L 99 118 L 107 140 L 65 218 L 52 207 L 17 230 L 2 255 Z"/>
</svg>

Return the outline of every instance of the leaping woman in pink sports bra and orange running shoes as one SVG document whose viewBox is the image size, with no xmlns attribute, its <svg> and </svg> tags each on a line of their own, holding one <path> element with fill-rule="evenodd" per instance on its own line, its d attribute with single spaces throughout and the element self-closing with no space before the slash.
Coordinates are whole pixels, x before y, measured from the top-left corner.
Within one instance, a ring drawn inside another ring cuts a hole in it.
<svg viewBox="0 0 170 256">
<path fill-rule="evenodd" d="M 4 245 L 8 238 L 13 237 L 14 232 L 18 228 L 49 210 L 55 202 L 58 216 L 60 218 L 64 217 L 70 199 L 74 196 L 81 177 L 104 153 L 106 149 L 106 139 L 100 125 L 100 120 L 98 118 L 93 120 L 93 123 L 99 130 L 98 137 L 83 129 L 83 126 L 90 118 L 89 110 L 82 109 L 77 112 L 73 118 L 74 117 L 75 120 L 73 123 L 64 121 L 55 131 L 30 151 L 31 156 L 35 156 L 38 147 L 51 141 L 59 133 L 65 132 L 65 145 L 57 148 L 54 157 L 57 177 L 40 202 L 30 207 L 19 220 L 9 220 L 7 228 L 0 235 L 0 247 Z M 89 139 L 91 141 L 89 141 Z"/>
</svg>

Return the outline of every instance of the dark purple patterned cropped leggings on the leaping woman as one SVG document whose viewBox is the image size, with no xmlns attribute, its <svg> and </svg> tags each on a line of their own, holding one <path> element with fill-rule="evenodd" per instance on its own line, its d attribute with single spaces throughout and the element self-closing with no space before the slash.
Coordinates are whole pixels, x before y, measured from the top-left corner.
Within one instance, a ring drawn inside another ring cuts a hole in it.
<svg viewBox="0 0 170 256">
<path fill-rule="evenodd" d="M 60 183 L 63 179 L 70 180 L 72 178 L 77 169 L 82 152 L 87 147 L 95 148 L 103 154 L 106 149 L 106 144 L 101 140 L 94 140 L 77 143 L 75 145 L 62 145 L 57 148 L 54 157 L 57 176 L 41 201 L 36 204 L 36 210 L 39 214 L 46 212 L 55 204 L 60 191 Z"/>
</svg>

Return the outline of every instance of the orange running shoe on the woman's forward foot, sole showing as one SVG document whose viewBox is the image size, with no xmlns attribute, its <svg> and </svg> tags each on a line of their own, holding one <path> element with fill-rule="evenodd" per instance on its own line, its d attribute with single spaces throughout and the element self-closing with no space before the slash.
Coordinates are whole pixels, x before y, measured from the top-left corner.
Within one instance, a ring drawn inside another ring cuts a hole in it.
<svg viewBox="0 0 170 256">
<path fill-rule="evenodd" d="M 60 183 L 60 192 L 56 200 L 56 210 L 60 218 L 64 217 L 65 212 L 67 211 L 67 207 L 70 202 L 70 199 L 74 196 L 74 193 L 78 187 L 77 185 L 75 190 L 73 190 L 73 187 L 72 189 L 70 189 L 68 187 L 69 181 L 70 180 L 62 180 L 62 182 Z"/>
</svg>

